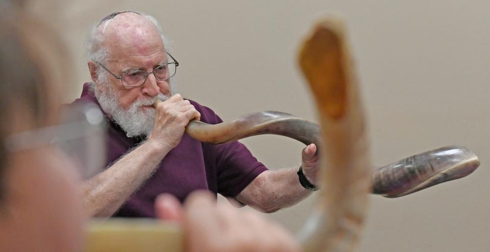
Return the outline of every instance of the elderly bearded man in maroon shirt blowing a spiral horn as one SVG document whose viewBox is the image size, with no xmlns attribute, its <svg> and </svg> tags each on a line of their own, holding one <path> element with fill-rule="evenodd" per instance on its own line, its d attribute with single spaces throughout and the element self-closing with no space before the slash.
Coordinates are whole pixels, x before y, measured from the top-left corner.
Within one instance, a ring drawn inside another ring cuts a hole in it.
<svg viewBox="0 0 490 252">
<path fill-rule="evenodd" d="M 184 134 L 191 120 L 222 120 L 172 93 L 179 63 L 153 17 L 132 11 L 107 16 L 93 28 L 88 51 L 93 82 L 76 102 L 99 104 L 110 122 L 108 168 L 86 180 L 82 190 L 93 216 L 154 217 L 157 195 L 183 201 L 199 189 L 274 212 L 314 189 L 314 145 L 303 150 L 302 169 L 269 171 L 239 142 L 209 145 Z M 163 102 L 154 108 L 156 99 Z M 309 181 L 300 183 L 299 176 Z"/>
</svg>

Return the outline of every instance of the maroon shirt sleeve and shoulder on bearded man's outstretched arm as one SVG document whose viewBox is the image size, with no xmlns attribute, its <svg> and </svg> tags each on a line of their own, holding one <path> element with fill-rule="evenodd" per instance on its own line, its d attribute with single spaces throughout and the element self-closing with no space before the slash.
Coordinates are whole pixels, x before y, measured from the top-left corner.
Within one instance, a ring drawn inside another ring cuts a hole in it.
<svg viewBox="0 0 490 252">
<path fill-rule="evenodd" d="M 209 124 L 223 122 L 210 108 L 199 104 L 194 106 L 201 112 L 201 121 Z M 260 173 L 267 170 L 250 150 L 238 141 L 213 147 L 216 155 L 217 192 L 225 197 L 234 198 Z"/>
</svg>

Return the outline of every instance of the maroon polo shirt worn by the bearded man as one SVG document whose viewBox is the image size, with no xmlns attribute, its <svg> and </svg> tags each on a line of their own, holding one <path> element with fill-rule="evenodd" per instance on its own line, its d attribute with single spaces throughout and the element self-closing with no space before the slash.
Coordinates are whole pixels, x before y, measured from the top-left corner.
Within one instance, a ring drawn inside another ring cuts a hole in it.
<svg viewBox="0 0 490 252">
<path fill-rule="evenodd" d="M 88 83 L 82 96 L 74 103 L 93 102 Z M 208 124 L 223 122 L 208 107 L 190 101 L 201 113 L 201 121 Z M 128 138 L 110 118 L 107 130 L 107 166 L 114 163 L 144 138 Z M 238 141 L 212 145 L 199 142 L 184 134 L 179 145 L 163 158 L 155 173 L 114 214 L 118 217 L 155 217 L 154 201 L 161 193 L 175 195 L 181 202 L 195 190 L 209 190 L 226 197 L 235 197 L 260 173 L 267 170 L 252 153 Z"/>
</svg>

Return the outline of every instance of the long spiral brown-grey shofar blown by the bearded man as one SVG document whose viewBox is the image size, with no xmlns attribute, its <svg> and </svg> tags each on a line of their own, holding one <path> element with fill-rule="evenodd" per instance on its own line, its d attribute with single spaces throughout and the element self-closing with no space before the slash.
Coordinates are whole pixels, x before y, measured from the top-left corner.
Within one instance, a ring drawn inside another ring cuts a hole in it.
<svg viewBox="0 0 490 252">
<path fill-rule="evenodd" d="M 320 144 L 320 127 L 288 113 L 263 111 L 234 121 L 206 124 L 192 121 L 185 131 L 201 142 L 223 144 L 260 134 L 287 136 L 305 145 Z M 331 143 L 325 143 L 326 145 Z M 447 146 L 380 167 L 373 174 L 373 193 L 400 197 L 472 173 L 480 162 L 468 148 Z"/>
</svg>

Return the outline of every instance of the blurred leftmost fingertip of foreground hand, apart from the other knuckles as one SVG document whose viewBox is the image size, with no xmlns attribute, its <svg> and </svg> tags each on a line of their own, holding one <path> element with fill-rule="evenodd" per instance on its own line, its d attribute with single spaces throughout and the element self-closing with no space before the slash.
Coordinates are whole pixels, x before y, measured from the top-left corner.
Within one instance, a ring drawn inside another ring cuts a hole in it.
<svg viewBox="0 0 490 252">
<path fill-rule="evenodd" d="M 170 194 L 161 194 L 155 200 L 157 218 L 168 221 L 182 222 L 182 205 Z"/>
</svg>

